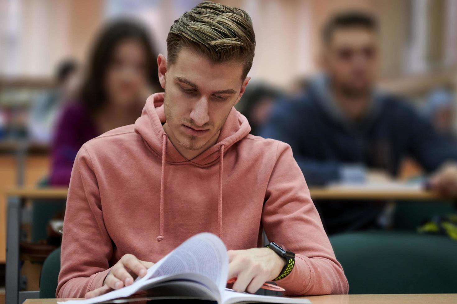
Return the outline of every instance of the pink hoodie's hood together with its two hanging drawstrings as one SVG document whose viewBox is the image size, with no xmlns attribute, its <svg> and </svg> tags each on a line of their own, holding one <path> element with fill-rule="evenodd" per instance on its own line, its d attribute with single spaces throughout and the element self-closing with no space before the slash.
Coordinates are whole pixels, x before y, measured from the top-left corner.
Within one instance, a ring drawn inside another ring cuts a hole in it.
<svg viewBox="0 0 457 304">
<path fill-rule="evenodd" d="M 165 123 L 164 111 L 165 93 L 155 93 L 146 100 L 141 117 L 135 122 L 135 132 L 138 133 L 145 144 L 162 158 L 162 170 L 160 172 L 160 222 L 159 236 L 157 242 L 164 239 L 164 196 L 165 196 L 165 164 L 172 165 L 194 164 L 199 166 L 212 165 L 219 159 L 219 180 L 218 180 L 218 229 L 219 237 L 222 238 L 222 186 L 223 186 L 223 160 L 224 151 L 234 143 L 249 134 L 251 128 L 248 120 L 232 107 L 225 123 L 222 126 L 218 141 L 202 154 L 192 160 L 187 160 L 171 144 L 165 133 L 162 124 Z"/>
</svg>

